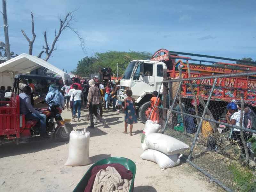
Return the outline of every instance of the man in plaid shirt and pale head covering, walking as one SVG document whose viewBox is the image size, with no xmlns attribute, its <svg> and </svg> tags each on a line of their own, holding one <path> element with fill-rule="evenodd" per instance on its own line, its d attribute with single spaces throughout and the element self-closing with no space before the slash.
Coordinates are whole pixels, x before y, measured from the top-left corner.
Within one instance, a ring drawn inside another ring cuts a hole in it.
<svg viewBox="0 0 256 192">
<path fill-rule="evenodd" d="M 92 114 L 94 114 L 102 122 L 102 127 L 103 127 L 107 122 L 98 114 L 98 105 L 101 105 L 100 90 L 98 87 L 95 86 L 93 79 L 89 81 L 89 85 L 91 87 L 89 88 L 89 93 L 87 97 L 88 102 L 87 102 L 86 108 L 89 107 L 89 116 L 90 116 L 91 125 L 88 126 L 88 128 L 94 128 Z"/>
</svg>

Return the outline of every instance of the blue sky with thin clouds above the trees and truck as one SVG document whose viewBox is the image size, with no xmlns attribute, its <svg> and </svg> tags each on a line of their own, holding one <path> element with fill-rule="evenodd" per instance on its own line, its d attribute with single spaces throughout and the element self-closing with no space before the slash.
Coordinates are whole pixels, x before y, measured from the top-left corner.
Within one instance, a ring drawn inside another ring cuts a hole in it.
<svg viewBox="0 0 256 192">
<path fill-rule="evenodd" d="M 48 60 L 61 70 L 76 69 L 79 60 L 95 52 L 125 51 L 155 53 L 169 51 L 213 55 L 233 59 L 256 60 L 256 1 L 201 0 L 6 0 L 11 51 L 28 53 L 31 15 L 34 13 L 36 40 L 33 55 L 48 42 L 59 28 L 59 16 L 74 11 L 73 27 L 85 38 L 86 53 L 76 34 L 64 31 L 57 50 Z M 1 10 L 2 11 L 2 10 Z M 3 22 L 3 21 L 2 21 Z M 3 24 L 3 23 L 2 23 Z M 1 24 L 1 25 L 2 25 Z M 0 28 L 0 41 L 4 29 Z M 45 55 L 41 57 L 45 58 Z"/>
</svg>

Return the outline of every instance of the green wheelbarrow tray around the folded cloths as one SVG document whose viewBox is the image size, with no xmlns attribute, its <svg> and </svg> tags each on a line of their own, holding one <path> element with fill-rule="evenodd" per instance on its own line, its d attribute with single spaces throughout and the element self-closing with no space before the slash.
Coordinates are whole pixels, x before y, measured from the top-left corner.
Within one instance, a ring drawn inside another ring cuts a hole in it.
<svg viewBox="0 0 256 192">
<path fill-rule="evenodd" d="M 108 157 L 108 158 L 105 158 L 105 159 L 101 159 L 100 161 L 93 164 L 88 169 L 88 171 L 85 173 L 84 177 L 77 184 L 77 186 L 76 186 L 76 188 L 74 189 L 73 192 L 84 192 L 84 189 L 87 186 L 88 180 L 91 177 L 93 167 L 95 167 L 97 165 L 110 164 L 110 163 L 119 163 L 121 165 L 124 165 L 124 167 L 126 169 L 128 169 L 132 172 L 132 174 L 133 174 L 132 183 L 131 183 L 131 187 L 129 189 L 129 192 L 132 192 L 133 188 L 134 188 L 134 178 L 135 178 L 135 174 L 136 174 L 136 165 L 132 160 L 124 158 L 124 157 Z"/>
</svg>

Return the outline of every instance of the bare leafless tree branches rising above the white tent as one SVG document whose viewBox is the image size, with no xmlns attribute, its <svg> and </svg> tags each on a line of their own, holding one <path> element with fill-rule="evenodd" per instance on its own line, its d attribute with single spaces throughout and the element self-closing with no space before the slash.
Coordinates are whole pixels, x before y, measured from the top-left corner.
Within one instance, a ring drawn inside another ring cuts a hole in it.
<svg viewBox="0 0 256 192">
<path fill-rule="evenodd" d="M 68 12 L 67 15 L 65 16 L 64 20 L 62 20 L 60 17 L 59 17 L 59 20 L 60 20 L 60 28 L 58 31 L 56 31 L 55 29 L 55 38 L 53 40 L 53 43 L 52 45 L 48 44 L 48 41 L 47 41 L 47 33 L 46 31 L 44 31 L 44 43 L 45 45 L 43 45 L 43 49 L 44 51 L 41 51 L 39 54 L 38 54 L 38 58 L 41 58 L 42 54 L 45 52 L 46 53 L 46 57 L 44 58 L 45 61 L 47 61 L 52 52 L 54 50 L 56 50 L 56 42 L 58 41 L 58 38 L 60 37 L 60 34 L 62 33 L 63 30 L 67 30 L 67 29 L 71 29 L 73 32 L 76 33 L 76 35 L 78 36 L 79 40 L 80 40 L 80 45 L 83 49 L 83 51 L 85 52 L 85 42 L 84 42 L 84 38 L 80 36 L 79 34 L 79 31 L 74 29 L 72 27 L 73 23 L 72 22 L 76 22 L 75 18 L 74 18 L 74 12 L 76 12 L 77 10 L 74 10 L 72 12 Z M 21 29 L 21 32 L 23 33 L 23 35 L 25 36 L 25 38 L 28 40 L 28 43 L 29 43 L 29 54 L 32 55 L 32 50 L 33 50 L 33 43 L 35 41 L 35 38 L 36 38 L 36 35 L 35 35 L 35 32 L 34 32 L 34 19 L 33 19 L 33 13 L 31 13 L 31 18 L 32 18 L 32 35 L 33 35 L 33 39 L 32 41 L 30 41 L 30 39 L 28 38 L 28 36 L 26 35 L 25 31 Z"/>
</svg>

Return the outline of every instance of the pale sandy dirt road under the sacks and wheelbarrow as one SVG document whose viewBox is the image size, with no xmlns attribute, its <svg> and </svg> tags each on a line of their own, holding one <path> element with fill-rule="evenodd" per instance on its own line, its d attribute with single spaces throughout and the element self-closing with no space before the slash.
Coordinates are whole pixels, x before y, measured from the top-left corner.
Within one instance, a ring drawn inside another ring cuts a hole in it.
<svg viewBox="0 0 256 192">
<path fill-rule="evenodd" d="M 72 122 L 73 127 L 87 127 L 87 114 L 88 110 L 82 110 L 81 122 Z M 70 118 L 71 112 L 65 110 L 62 117 Z M 105 128 L 99 124 L 86 130 L 91 134 L 89 154 L 92 164 L 110 156 L 131 159 L 137 166 L 134 192 L 218 191 L 216 184 L 210 184 L 185 162 L 161 171 L 157 164 L 140 159 L 144 124 L 134 124 L 133 136 L 129 136 L 122 133 L 124 114 L 104 110 L 103 118 L 108 122 Z M 68 147 L 68 142 L 54 142 L 52 139 L 19 145 L 0 143 L 0 191 L 73 191 L 92 164 L 65 166 Z"/>
</svg>

